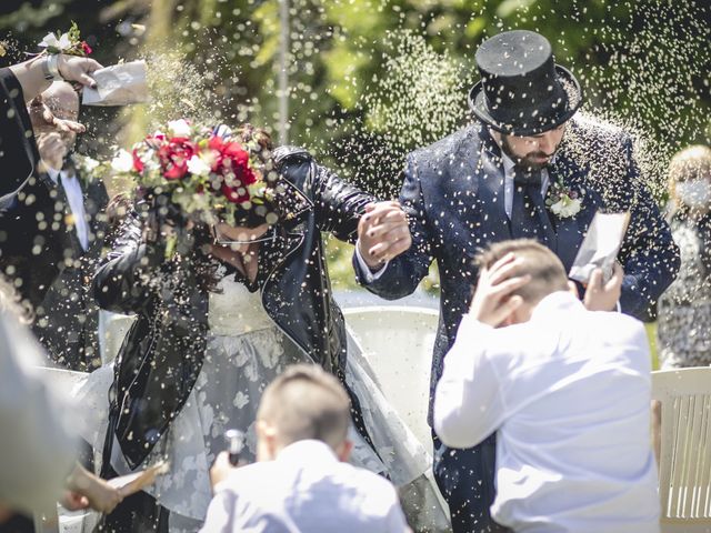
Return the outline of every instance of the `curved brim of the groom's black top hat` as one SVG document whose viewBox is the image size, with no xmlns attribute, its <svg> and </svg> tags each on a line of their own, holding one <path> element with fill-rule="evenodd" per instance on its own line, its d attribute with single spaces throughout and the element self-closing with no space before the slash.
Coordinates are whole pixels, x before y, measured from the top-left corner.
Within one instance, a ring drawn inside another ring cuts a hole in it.
<svg viewBox="0 0 711 533">
<path fill-rule="evenodd" d="M 487 105 L 487 99 L 484 98 L 483 84 L 481 81 L 477 82 L 474 87 L 469 91 L 469 107 L 472 112 L 477 115 L 479 120 L 493 128 L 501 133 L 517 135 L 517 137 L 525 137 L 525 135 L 535 135 L 539 133 L 543 133 L 545 131 L 558 128 L 563 122 L 570 120 L 570 118 L 575 114 L 580 105 L 582 105 L 582 89 L 580 88 L 580 83 L 575 79 L 575 77 L 564 67 L 560 64 L 555 66 L 555 73 L 558 78 L 563 83 L 570 83 L 570 86 L 574 89 L 577 93 L 577 98 L 573 102 L 571 102 L 571 98 L 568 97 L 568 105 L 564 105 L 561 109 L 561 112 L 548 117 L 547 123 L 544 125 L 535 124 L 535 125 L 521 125 L 521 124 L 509 124 L 503 123 L 497 120 Z"/>
</svg>

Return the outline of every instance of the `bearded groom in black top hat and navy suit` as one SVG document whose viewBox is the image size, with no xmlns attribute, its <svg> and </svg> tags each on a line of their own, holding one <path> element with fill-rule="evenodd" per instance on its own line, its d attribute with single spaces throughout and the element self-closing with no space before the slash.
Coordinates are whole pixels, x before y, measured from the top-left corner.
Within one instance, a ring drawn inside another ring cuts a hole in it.
<svg viewBox="0 0 711 533">
<path fill-rule="evenodd" d="M 573 74 L 553 62 L 545 38 L 503 32 L 479 48 L 475 61 L 481 81 L 469 104 L 478 120 L 407 159 L 400 202 L 412 245 L 400 253 L 402 240 L 388 237 L 401 214 L 387 204 L 371 209 L 359 227 L 357 275 L 382 298 L 412 293 L 437 261 L 441 311 L 431 391 L 469 308 L 477 280 L 472 258 L 492 242 L 538 239 L 569 271 L 595 211 L 630 211 L 618 254 L 622 295 L 618 302 L 614 291 L 600 286 L 598 301 L 599 309 L 619 306 L 637 318 L 648 315 L 679 268 L 678 249 L 642 183 L 630 138 L 610 124 L 573 117 L 582 91 Z M 454 532 L 505 531 L 489 514 L 494 435 L 467 450 L 448 449 L 434 433 L 433 441 L 434 475 Z"/>
</svg>

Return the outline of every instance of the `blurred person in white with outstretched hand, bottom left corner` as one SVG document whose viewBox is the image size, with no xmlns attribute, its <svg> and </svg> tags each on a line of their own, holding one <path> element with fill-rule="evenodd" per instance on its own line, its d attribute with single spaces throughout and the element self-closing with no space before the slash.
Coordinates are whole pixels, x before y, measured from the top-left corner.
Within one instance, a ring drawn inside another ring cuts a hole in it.
<svg viewBox="0 0 711 533">
<path fill-rule="evenodd" d="M 0 532 L 33 531 L 31 516 L 92 507 L 111 512 L 121 492 L 77 463 L 74 411 L 38 369 L 43 350 L 28 310 L 0 276 Z"/>
</svg>

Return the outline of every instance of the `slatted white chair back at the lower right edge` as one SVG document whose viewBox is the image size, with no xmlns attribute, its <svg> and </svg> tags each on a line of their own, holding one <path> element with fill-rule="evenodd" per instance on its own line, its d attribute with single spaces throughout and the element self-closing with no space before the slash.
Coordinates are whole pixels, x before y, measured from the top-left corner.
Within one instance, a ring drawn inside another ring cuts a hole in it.
<svg viewBox="0 0 711 533">
<path fill-rule="evenodd" d="M 652 373 L 663 533 L 711 532 L 711 368 Z"/>
</svg>

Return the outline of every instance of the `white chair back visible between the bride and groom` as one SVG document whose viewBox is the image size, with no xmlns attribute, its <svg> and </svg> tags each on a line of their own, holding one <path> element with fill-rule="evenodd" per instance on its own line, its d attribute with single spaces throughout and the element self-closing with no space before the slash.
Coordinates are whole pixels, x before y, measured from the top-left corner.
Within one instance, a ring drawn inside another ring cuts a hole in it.
<svg viewBox="0 0 711 533">
<path fill-rule="evenodd" d="M 346 309 L 343 315 L 383 394 L 424 449 L 432 450 L 427 410 L 439 312 L 373 305 Z"/>
</svg>

